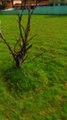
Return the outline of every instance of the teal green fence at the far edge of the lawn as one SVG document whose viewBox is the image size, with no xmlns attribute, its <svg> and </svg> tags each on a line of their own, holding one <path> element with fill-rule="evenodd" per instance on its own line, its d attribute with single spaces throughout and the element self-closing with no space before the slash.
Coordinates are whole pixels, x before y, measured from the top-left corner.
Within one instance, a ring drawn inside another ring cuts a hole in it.
<svg viewBox="0 0 67 120">
<path fill-rule="evenodd" d="M 18 14 L 19 10 L 3 10 L 0 11 L 0 14 Z M 24 14 L 27 14 L 27 10 L 24 11 Z M 36 7 L 33 14 L 66 14 L 67 15 L 67 6 L 42 6 Z"/>
</svg>

